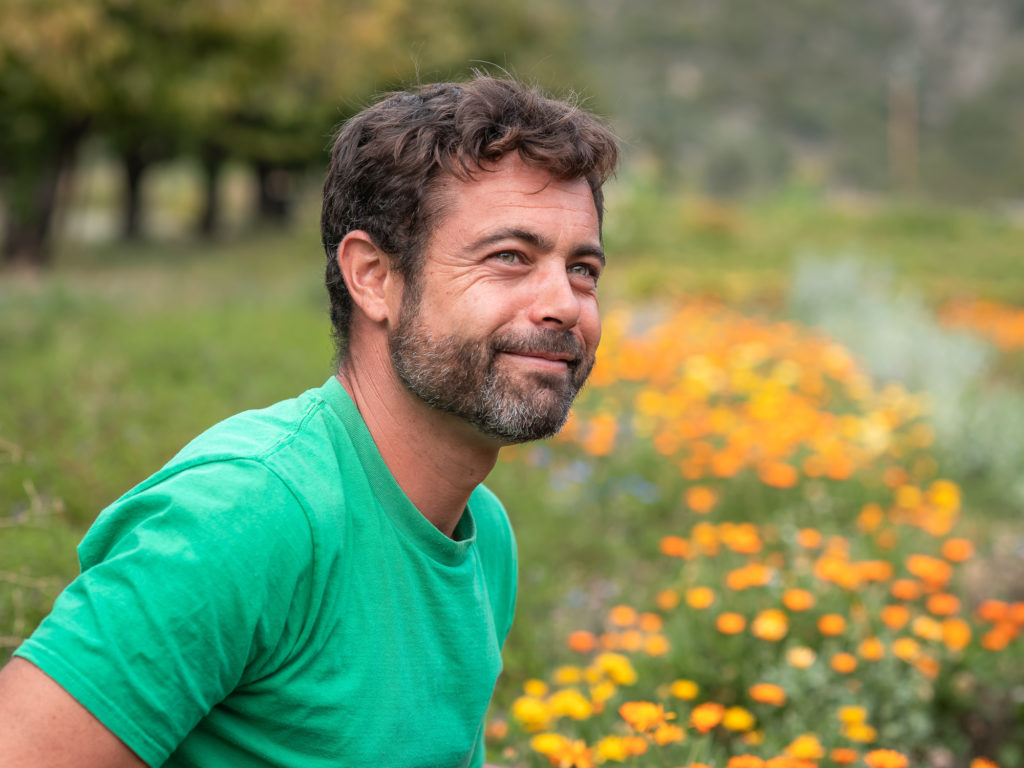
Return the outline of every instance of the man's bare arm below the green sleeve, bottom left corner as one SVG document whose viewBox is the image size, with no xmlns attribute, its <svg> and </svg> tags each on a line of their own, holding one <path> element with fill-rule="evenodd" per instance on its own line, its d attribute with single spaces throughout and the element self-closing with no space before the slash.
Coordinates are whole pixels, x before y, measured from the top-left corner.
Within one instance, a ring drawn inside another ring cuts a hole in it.
<svg viewBox="0 0 1024 768">
<path fill-rule="evenodd" d="M 4 768 L 145 766 L 74 696 L 17 657 L 0 670 L 0 763 Z"/>
</svg>

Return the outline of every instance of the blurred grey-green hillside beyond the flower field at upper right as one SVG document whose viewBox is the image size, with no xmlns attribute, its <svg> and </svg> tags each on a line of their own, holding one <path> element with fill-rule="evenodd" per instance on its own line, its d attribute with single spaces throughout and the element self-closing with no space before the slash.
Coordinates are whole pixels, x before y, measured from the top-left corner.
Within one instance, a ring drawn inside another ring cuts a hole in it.
<svg viewBox="0 0 1024 768">
<path fill-rule="evenodd" d="M 1022 0 L 571 1 L 604 100 L 666 184 L 736 194 L 813 161 L 862 188 L 1020 194 Z M 993 178 L 971 157 L 996 146 Z"/>
</svg>

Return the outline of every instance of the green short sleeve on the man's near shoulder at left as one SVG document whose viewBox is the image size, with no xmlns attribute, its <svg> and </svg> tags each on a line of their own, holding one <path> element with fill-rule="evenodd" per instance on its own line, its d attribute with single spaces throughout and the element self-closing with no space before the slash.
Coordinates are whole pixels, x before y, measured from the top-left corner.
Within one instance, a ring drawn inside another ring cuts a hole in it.
<svg viewBox="0 0 1024 768">
<path fill-rule="evenodd" d="M 81 575 L 15 653 L 150 765 L 288 654 L 289 608 L 309 600 L 305 512 L 256 461 L 140 486 L 104 510 L 79 554 Z"/>
</svg>

